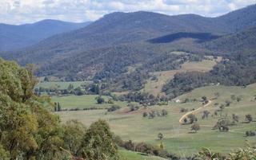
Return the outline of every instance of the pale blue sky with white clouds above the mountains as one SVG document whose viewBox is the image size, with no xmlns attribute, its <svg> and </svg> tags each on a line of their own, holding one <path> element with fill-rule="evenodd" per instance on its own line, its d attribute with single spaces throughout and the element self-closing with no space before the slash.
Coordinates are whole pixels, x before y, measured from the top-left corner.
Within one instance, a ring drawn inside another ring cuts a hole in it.
<svg viewBox="0 0 256 160">
<path fill-rule="evenodd" d="M 115 11 L 200 14 L 216 17 L 256 4 L 256 0 L 0 0 L 0 23 L 23 24 L 42 19 L 94 21 Z"/>
</svg>

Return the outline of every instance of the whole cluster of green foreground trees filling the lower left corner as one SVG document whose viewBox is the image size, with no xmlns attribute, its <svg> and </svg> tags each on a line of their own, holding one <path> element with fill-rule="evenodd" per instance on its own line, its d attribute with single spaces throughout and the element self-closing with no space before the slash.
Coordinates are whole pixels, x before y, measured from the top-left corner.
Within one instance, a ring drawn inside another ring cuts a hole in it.
<svg viewBox="0 0 256 160">
<path fill-rule="evenodd" d="M 1 159 L 118 159 L 114 135 L 104 120 L 86 128 L 62 125 L 34 95 L 33 68 L 0 59 Z M 47 103 L 51 103 L 48 99 Z"/>
</svg>

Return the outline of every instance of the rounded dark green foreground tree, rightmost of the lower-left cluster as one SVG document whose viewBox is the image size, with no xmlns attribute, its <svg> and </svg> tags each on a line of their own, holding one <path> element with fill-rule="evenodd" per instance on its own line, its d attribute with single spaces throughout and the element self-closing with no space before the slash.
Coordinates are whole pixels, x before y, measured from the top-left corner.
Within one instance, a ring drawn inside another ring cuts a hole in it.
<svg viewBox="0 0 256 160">
<path fill-rule="evenodd" d="M 87 160 L 117 159 L 118 147 L 105 120 L 92 123 L 82 140 L 82 157 Z"/>
</svg>

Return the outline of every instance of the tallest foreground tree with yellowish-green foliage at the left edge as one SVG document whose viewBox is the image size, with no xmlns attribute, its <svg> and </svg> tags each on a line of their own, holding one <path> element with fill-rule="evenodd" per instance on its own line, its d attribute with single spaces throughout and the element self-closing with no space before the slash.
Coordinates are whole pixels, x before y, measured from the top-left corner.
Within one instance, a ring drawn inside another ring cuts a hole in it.
<svg viewBox="0 0 256 160">
<path fill-rule="evenodd" d="M 0 59 L 0 68 L 0 154 L 10 159 L 59 159 L 59 121 L 45 109 L 53 107 L 50 99 L 34 95 L 33 66 L 20 68 Z"/>
</svg>

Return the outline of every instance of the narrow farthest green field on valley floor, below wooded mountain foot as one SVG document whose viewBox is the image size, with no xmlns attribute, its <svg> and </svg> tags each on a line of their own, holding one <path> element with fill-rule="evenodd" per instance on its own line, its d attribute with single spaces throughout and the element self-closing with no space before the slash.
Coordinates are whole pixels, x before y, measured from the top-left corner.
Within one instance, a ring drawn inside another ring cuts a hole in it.
<svg viewBox="0 0 256 160">
<path fill-rule="evenodd" d="M 74 81 L 74 82 L 40 82 L 35 88 L 58 88 L 66 89 L 70 84 L 74 85 L 74 88 L 80 87 L 82 84 L 88 83 L 86 81 Z"/>
</svg>

